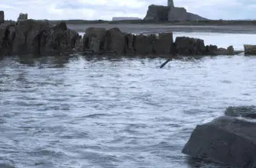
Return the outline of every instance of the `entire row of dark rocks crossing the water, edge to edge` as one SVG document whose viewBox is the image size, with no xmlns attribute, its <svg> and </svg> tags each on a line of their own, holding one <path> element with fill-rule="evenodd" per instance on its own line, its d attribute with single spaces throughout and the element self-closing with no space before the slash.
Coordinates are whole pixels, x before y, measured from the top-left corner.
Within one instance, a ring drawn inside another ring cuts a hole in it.
<svg viewBox="0 0 256 168">
<path fill-rule="evenodd" d="M 117 27 L 106 30 L 89 27 L 84 36 L 66 27 L 65 22 L 51 25 L 32 19 L 5 21 L 0 24 L 0 55 L 69 55 L 118 54 L 129 56 L 173 57 L 234 55 L 232 46 L 219 48 L 205 45 L 204 40 L 190 37 L 173 39 L 172 33 L 127 34 Z M 245 45 L 245 54 L 256 54 L 256 46 Z"/>
</svg>

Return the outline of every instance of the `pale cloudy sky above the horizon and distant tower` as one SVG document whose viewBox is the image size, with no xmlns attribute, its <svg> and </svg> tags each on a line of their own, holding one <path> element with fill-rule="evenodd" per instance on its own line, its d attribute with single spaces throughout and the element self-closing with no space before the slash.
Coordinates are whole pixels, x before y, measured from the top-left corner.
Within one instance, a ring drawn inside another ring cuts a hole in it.
<svg viewBox="0 0 256 168">
<path fill-rule="evenodd" d="M 167 0 L 1 0 L 0 8 L 12 20 L 20 12 L 34 19 L 111 20 L 144 18 L 151 4 L 167 5 Z M 174 0 L 174 5 L 209 19 L 256 18 L 256 0 Z"/>
</svg>

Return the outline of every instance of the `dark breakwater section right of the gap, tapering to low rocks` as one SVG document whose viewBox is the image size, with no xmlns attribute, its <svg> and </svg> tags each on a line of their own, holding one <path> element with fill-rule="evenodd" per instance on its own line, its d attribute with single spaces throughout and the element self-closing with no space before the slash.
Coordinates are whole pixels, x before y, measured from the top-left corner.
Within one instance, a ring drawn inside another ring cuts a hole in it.
<svg viewBox="0 0 256 168">
<path fill-rule="evenodd" d="M 206 46 L 201 39 L 177 37 L 173 41 L 172 33 L 156 34 L 126 34 L 118 28 L 106 30 L 102 27 L 89 27 L 81 40 L 80 53 L 116 53 L 128 55 L 169 56 L 204 56 L 204 55 L 234 55 L 234 48 L 218 48 L 215 45 Z"/>
</svg>

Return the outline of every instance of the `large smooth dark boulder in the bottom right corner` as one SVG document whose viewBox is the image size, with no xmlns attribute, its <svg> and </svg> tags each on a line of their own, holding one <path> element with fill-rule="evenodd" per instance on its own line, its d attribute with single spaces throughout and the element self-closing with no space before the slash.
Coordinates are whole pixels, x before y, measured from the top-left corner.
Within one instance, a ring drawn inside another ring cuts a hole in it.
<svg viewBox="0 0 256 168">
<path fill-rule="evenodd" d="M 254 168 L 256 123 L 224 116 L 197 125 L 182 152 L 230 166 Z"/>
</svg>

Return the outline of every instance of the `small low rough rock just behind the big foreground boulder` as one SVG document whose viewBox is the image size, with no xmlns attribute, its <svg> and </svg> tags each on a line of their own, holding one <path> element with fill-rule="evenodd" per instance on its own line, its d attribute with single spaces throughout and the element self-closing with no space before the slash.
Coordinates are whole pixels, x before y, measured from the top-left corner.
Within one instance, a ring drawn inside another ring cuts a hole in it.
<svg viewBox="0 0 256 168">
<path fill-rule="evenodd" d="M 225 109 L 225 115 L 231 117 L 256 118 L 256 106 L 238 106 Z"/>
</svg>

